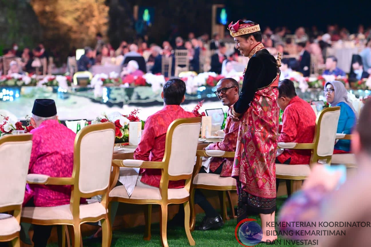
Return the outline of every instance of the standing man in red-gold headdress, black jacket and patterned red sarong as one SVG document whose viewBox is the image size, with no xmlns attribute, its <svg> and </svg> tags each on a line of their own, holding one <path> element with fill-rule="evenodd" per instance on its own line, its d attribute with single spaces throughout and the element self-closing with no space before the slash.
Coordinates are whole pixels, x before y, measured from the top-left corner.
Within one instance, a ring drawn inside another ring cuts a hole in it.
<svg viewBox="0 0 371 247">
<path fill-rule="evenodd" d="M 237 180 L 239 194 L 237 222 L 248 214 L 260 214 L 262 241 L 274 241 L 267 236 L 274 230 L 268 222 L 275 221 L 276 210 L 276 150 L 279 107 L 278 60 L 264 49 L 259 24 L 239 20 L 228 26 L 236 49 L 249 63 L 244 71 L 239 100 L 231 107 L 233 121 L 239 121 L 236 156 L 232 177 Z"/>
</svg>

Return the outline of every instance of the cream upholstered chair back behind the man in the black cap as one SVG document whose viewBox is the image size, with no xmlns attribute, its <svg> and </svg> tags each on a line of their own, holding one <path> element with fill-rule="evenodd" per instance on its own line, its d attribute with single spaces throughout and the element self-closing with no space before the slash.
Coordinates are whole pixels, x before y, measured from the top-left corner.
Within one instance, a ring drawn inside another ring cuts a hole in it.
<svg viewBox="0 0 371 247">
<path fill-rule="evenodd" d="M 114 143 L 112 123 L 86 126 L 76 136 L 74 163 L 78 159 L 81 193 L 94 193 L 108 187 Z"/>
</svg>

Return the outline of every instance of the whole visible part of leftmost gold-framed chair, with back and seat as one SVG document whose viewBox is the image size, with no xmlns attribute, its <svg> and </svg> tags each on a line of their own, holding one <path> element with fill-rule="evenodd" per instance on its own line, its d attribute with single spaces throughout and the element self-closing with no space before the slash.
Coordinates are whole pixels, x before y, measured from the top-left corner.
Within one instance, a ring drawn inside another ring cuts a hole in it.
<svg viewBox="0 0 371 247">
<path fill-rule="evenodd" d="M 20 246 L 20 219 L 31 150 L 31 134 L 0 138 L 0 243 L 12 241 L 16 247 Z"/>
</svg>

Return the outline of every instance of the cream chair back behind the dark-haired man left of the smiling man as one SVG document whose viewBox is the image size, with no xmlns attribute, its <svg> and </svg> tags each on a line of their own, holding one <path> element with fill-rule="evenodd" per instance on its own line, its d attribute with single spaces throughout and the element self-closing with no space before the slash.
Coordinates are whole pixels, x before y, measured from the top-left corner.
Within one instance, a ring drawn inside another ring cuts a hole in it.
<svg viewBox="0 0 371 247">
<path fill-rule="evenodd" d="M 170 130 L 173 125 L 175 128 L 171 134 Z M 192 174 L 200 128 L 199 118 L 177 119 L 170 124 L 166 134 L 164 156 L 164 159 L 168 158 L 169 161 L 168 174 L 170 176 Z"/>
</svg>

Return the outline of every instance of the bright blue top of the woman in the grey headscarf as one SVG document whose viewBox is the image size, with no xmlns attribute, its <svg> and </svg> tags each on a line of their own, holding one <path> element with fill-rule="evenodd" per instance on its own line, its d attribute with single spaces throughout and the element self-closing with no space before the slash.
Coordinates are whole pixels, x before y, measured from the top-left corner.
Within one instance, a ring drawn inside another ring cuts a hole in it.
<svg viewBox="0 0 371 247">
<path fill-rule="evenodd" d="M 340 106 L 340 117 L 336 133 L 351 134 L 352 128 L 356 124 L 356 117 L 353 110 L 344 102 L 340 102 L 336 106 Z M 339 140 L 334 148 L 349 152 L 350 140 Z"/>
</svg>

